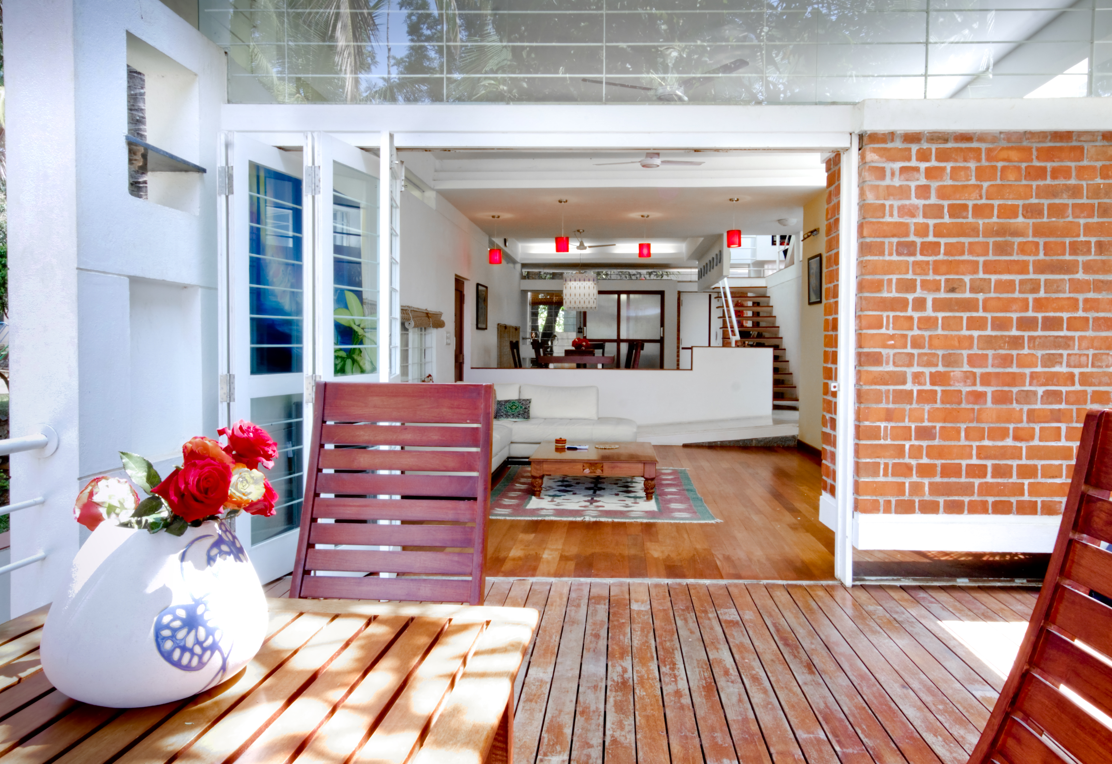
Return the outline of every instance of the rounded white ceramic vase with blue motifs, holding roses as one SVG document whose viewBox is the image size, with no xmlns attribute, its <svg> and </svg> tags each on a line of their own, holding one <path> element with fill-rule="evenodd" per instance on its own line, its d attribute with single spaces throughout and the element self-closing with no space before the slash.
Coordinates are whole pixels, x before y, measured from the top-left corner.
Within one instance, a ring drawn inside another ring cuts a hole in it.
<svg viewBox="0 0 1112 764">
<path fill-rule="evenodd" d="M 116 708 L 169 703 L 237 674 L 262 645 L 267 603 L 231 528 L 181 536 L 101 523 L 42 628 L 47 678 Z"/>
</svg>

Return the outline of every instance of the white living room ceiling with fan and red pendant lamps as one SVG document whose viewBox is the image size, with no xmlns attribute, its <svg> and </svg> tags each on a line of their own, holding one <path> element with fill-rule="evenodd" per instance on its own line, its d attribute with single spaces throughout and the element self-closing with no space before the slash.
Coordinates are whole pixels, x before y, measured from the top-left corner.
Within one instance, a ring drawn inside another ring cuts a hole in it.
<svg viewBox="0 0 1112 764">
<path fill-rule="evenodd" d="M 497 239 L 507 239 L 523 264 L 576 264 L 582 257 L 587 265 L 623 267 L 693 266 L 704 237 L 735 226 L 746 235 L 797 232 L 803 205 L 826 182 L 816 152 L 662 150 L 661 159 L 705 163 L 597 166 L 636 162 L 646 150 L 434 151 L 433 185 L 488 236 L 495 236 L 490 216 L 500 216 Z M 562 212 L 568 254 L 555 251 Z M 783 226 L 781 218 L 795 222 Z M 577 251 L 576 229 L 587 245 L 616 246 Z M 637 257 L 641 241 L 652 244 L 652 259 Z"/>
</svg>

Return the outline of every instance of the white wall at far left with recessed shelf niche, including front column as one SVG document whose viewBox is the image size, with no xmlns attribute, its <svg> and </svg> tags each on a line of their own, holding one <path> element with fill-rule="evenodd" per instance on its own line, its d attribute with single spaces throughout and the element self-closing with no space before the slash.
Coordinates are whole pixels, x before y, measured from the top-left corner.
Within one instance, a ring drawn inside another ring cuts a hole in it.
<svg viewBox="0 0 1112 764">
<path fill-rule="evenodd" d="M 215 312 L 225 56 L 157 2 L 10 0 L 4 17 L 11 429 L 48 423 L 60 436 L 50 457 L 11 459 L 12 500 L 47 499 L 11 519 L 12 559 L 48 553 L 12 574 L 19 615 L 68 570 L 71 507 L 90 474 L 118 467 L 121 448 L 159 458 L 181 433 L 216 435 L 216 324 L 200 306 Z M 128 192 L 129 32 L 195 75 L 178 119 L 193 121 L 196 149 L 179 152 L 212 171 L 193 212 Z"/>
</svg>

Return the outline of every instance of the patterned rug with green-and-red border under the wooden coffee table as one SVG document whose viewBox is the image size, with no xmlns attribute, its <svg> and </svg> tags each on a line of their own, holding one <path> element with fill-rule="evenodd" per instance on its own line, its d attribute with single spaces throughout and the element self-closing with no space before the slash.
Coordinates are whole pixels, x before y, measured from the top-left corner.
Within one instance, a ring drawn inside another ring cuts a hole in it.
<svg viewBox="0 0 1112 764">
<path fill-rule="evenodd" d="M 510 467 L 490 492 L 490 517 L 515 520 L 721 523 L 706 508 L 687 470 L 656 470 L 656 495 L 645 500 L 639 477 L 546 477 L 533 496 L 528 467 Z"/>
</svg>

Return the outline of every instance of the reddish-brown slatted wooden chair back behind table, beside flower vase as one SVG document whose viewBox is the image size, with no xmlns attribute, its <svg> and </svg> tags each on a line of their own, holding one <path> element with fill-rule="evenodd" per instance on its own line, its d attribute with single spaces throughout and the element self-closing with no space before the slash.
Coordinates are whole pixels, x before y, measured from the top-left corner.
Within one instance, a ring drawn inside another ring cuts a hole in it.
<svg viewBox="0 0 1112 764">
<path fill-rule="evenodd" d="M 493 419 L 492 385 L 318 381 L 289 596 L 481 604 Z"/>
</svg>

